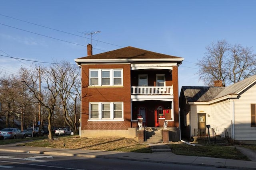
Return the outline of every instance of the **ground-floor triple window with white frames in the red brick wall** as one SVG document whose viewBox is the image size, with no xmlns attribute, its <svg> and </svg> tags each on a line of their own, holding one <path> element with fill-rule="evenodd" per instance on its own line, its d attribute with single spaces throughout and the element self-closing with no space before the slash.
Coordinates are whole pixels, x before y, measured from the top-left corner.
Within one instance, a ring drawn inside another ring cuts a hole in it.
<svg viewBox="0 0 256 170">
<path fill-rule="evenodd" d="M 123 119 L 123 102 L 90 102 L 91 120 Z"/>
</svg>

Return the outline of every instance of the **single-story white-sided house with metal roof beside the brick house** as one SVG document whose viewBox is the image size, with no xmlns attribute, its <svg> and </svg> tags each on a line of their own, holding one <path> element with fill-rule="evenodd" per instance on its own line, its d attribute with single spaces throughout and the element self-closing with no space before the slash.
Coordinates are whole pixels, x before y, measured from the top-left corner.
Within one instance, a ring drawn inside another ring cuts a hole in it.
<svg viewBox="0 0 256 170">
<path fill-rule="evenodd" d="M 228 87 L 183 86 L 179 102 L 182 137 L 210 125 L 216 135 L 226 129 L 232 140 L 256 144 L 256 75 Z"/>
</svg>

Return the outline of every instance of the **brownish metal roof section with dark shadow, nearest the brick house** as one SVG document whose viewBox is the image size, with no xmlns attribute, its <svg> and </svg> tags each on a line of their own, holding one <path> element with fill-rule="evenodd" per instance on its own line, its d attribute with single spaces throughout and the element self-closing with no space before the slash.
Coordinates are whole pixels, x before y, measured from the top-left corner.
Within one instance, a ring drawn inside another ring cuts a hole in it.
<svg viewBox="0 0 256 170">
<path fill-rule="evenodd" d="M 187 102 L 208 102 L 217 96 L 225 87 L 182 86 Z"/>
</svg>

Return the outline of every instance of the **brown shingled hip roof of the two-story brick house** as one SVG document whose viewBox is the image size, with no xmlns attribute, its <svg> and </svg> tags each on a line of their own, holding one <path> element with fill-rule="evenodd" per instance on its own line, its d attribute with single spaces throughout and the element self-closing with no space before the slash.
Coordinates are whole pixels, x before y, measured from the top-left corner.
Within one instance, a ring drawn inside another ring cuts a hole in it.
<svg viewBox="0 0 256 170">
<path fill-rule="evenodd" d="M 152 51 L 147 51 L 143 49 L 138 49 L 135 47 L 124 47 L 114 51 L 108 51 L 106 53 L 100 53 L 96 55 L 91 55 L 87 57 L 81 57 L 76 60 L 81 59 L 182 59 L 182 57 L 175 57 L 171 55 L 165 55 L 161 53 L 155 53 Z"/>
</svg>

